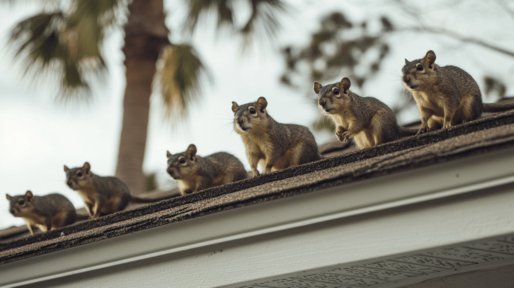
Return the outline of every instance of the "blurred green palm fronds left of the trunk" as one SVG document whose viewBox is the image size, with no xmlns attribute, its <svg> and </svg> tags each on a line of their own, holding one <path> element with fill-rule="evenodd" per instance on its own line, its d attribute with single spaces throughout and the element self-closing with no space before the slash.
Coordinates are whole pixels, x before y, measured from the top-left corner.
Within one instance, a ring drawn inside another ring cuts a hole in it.
<svg viewBox="0 0 514 288">
<path fill-rule="evenodd" d="M 48 1 L 50 3 L 50 1 Z M 101 53 L 106 29 L 118 23 L 126 0 L 76 0 L 66 8 L 40 13 L 18 23 L 10 42 L 24 57 L 26 74 L 58 76 L 63 98 L 87 94 L 91 81 L 106 71 Z"/>
</svg>

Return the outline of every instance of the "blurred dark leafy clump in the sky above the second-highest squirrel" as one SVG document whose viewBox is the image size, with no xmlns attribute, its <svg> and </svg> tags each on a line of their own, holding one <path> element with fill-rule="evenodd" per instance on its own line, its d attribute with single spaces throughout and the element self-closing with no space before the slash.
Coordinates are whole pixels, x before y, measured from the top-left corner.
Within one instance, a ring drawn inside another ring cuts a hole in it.
<svg viewBox="0 0 514 288">
<path fill-rule="evenodd" d="M 378 22 L 378 31 L 370 31 L 372 22 Z M 305 74 L 301 66 L 306 64 L 310 81 L 333 81 L 347 76 L 361 87 L 378 72 L 389 53 L 384 39 L 391 31 L 393 26 L 386 16 L 354 24 L 341 12 L 328 14 L 322 18 L 320 29 L 311 36 L 307 47 L 283 49 L 286 71 L 281 82 L 289 86 L 303 83 L 303 79 L 297 82 L 293 79 Z"/>
</svg>

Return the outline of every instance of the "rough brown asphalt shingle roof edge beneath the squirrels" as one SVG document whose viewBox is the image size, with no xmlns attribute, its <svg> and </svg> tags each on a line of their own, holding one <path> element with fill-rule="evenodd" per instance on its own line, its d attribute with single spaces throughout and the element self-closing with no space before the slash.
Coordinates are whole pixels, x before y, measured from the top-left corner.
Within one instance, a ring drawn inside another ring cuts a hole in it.
<svg viewBox="0 0 514 288">
<path fill-rule="evenodd" d="M 337 146 L 333 145 L 333 146 Z M 514 111 L 0 243 L 0 264 L 227 209 L 514 146 Z M 347 148 L 346 145 L 340 145 Z M 333 152 L 334 147 L 325 147 Z M 332 149 L 332 150 L 331 150 Z M 336 149 L 337 150 L 337 149 Z"/>
</svg>

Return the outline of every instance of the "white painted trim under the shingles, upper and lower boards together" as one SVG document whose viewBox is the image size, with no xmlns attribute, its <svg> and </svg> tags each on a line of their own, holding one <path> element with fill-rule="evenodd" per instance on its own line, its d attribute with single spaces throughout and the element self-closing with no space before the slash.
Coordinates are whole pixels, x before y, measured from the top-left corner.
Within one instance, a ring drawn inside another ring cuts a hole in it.
<svg viewBox="0 0 514 288">
<path fill-rule="evenodd" d="M 165 264 L 161 268 L 172 269 L 173 286 L 186 287 L 191 279 L 196 279 L 195 287 L 222 286 L 510 234 L 514 233 L 511 213 L 514 194 L 503 184 L 514 182 L 512 159 L 514 148 L 503 149 L 23 259 L 0 265 L 0 286 L 37 283 L 94 270 L 108 271 L 108 267 L 115 266 L 127 267 L 125 272 L 117 275 L 124 275 L 124 279 L 136 283 L 137 279 L 133 277 L 138 274 L 131 267 L 147 271 L 139 266 L 144 259 L 149 263 L 152 259 L 168 259 L 162 260 Z M 349 216 L 370 212 L 380 214 L 380 211 L 394 207 L 481 189 L 500 190 L 491 195 L 482 193 L 483 199 L 452 205 L 439 201 L 419 212 L 388 212 L 383 217 L 366 221 L 343 221 L 341 225 L 324 227 L 325 223 Z M 291 229 L 298 233 L 290 234 Z M 261 240 L 255 242 L 256 238 Z M 248 243 L 244 243 L 245 239 Z M 235 241 L 237 246 L 231 247 L 234 240 L 241 241 Z M 342 247 L 341 242 L 345 243 Z M 201 263 L 195 262 L 198 257 L 205 258 L 196 255 L 195 251 L 214 246 L 225 247 L 224 253 L 212 255 Z M 305 254 L 302 259 L 295 257 L 302 253 L 300 251 Z M 177 255 L 181 255 L 180 259 L 175 258 Z M 263 258 L 264 255 L 268 258 Z M 232 264 L 221 267 L 220 263 Z M 184 267 L 187 267 L 186 271 Z M 200 272 L 198 267 L 204 269 Z M 244 273 L 250 268 L 251 273 Z M 216 269 L 224 273 L 216 274 Z M 27 274 L 27 271 L 31 273 Z M 191 271 L 194 271 L 193 275 Z M 217 276 L 209 276 L 211 274 Z M 139 277 L 145 279 L 142 275 Z M 199 279 L 202 281 L 198 282 Z M 91 281 L 95 279 L 83 283 L 90 285 Z M 146 281 L 148 284 L 148 279 Z"/>
</svg>

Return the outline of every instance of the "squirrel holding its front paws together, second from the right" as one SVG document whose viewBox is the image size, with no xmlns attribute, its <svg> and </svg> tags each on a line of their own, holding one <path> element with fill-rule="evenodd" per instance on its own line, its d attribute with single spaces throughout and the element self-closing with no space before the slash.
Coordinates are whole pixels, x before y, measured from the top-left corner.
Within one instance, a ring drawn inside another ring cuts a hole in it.
<svg viewBox="0 0 514 288">
<path fill-rule="evenodd" d="M 350 91 L 350 79 L 322 86 L 314 82 L 318 108 L 336 124 L 336 137 L 346 142 L 353 137 L 358 148 L 374 147 L 415 135 L 417 129 L 398 126 L 396 116 L 386 104 L 373 97 L 360 97 Z"/>
</svg>

